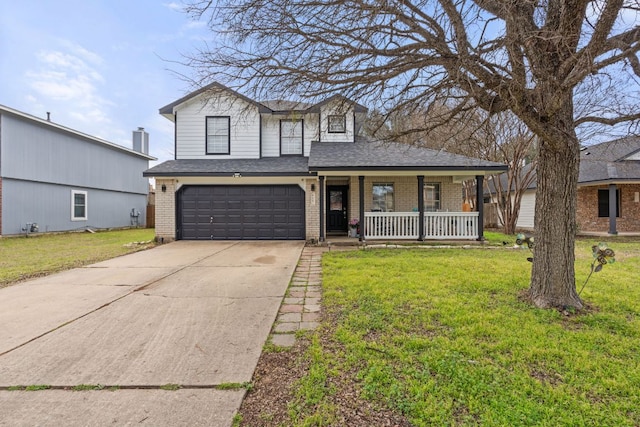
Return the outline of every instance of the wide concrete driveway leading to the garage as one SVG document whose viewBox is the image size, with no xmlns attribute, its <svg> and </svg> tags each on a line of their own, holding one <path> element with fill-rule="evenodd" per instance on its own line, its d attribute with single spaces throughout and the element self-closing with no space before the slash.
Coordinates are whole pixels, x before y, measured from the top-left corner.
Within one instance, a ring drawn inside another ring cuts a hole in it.
<svg viewBox="0 0 640 427">
<path fill-rule="evenodd" d="M 230 425 L 244 390 L 216 386 L 251 381 L 303 245 L 175 242 L 1 289 L 0 425 Z"/>
</svg>

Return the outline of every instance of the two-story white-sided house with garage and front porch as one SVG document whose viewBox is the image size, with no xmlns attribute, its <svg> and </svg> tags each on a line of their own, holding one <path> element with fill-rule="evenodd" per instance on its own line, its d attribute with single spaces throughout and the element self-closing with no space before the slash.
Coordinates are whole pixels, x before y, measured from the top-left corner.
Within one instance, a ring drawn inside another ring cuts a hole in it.
<svg viewBox="0 0 640 427">
<path fill-rule="evenodd" d="M 252 100 L 218 83 L 162 107 L 175 159 L 156 179 L 156 234 L 174 239 L 481 239 L 462 181 L 506 166 L 360 136 L 367 109 Z M 482 194 L 482 192 L 478 192 Z M 482 203 L 478 203 L 482 206 Z"/>
</svg>

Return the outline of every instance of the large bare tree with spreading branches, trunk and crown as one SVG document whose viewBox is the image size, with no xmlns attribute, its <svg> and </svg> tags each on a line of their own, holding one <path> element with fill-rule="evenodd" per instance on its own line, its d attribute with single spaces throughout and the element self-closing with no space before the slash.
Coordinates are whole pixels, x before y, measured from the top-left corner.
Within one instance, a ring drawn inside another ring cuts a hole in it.
<svg viewBox="0 0 640 427">
<path fill-rule="evenodd" d="M 511 111 L 538 137 L 529 294 L 583 306 L 574 243 L 579 125 L 637 124 L 638 0 L 194 0 L 214 41 L 195 80 L 262 95 L 341 93 L 380 111 Z M 225 80 L 226 78 L 226 80 Z M 588 91 L 588 98 L 575 94 Z M 615 96 L 614 96 L 615 95 Z"/>
</svg>

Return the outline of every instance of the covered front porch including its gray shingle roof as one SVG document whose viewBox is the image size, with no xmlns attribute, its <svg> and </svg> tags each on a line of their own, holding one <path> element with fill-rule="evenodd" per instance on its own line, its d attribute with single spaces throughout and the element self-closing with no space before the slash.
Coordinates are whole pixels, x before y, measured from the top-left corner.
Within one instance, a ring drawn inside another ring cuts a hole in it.
<svg viewBox="0 0 640 427">
<path fill-rule="evenodd" d="M 500 163 L 394 142 L 317 142 L 309 172 L 319 183 L 319 240 L 483 240 L 484 176 Z M 476 212 L 463 203 L 463 182 L 475 180 Z M 314 221 L 315 222 L 315 221 Z"/>
</svg>

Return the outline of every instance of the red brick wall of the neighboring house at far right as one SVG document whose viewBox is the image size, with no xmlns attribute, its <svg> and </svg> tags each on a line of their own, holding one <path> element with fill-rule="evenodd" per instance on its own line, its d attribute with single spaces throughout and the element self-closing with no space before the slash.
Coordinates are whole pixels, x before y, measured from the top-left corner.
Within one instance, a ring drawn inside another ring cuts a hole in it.
<svg viewBox="0 0 640 427">
<path fill-rule="evenodd" d="M 640 193 L 640 184 L 621 184 L 620 210 L 622 216 L 616 218 L 618 232 L 640 231 L 640 202 L 635 202 L 635 193 Z M 578 189 L 576 217 L 579 231 L 609 231 L 609 218 L 598 218 L 598 190 L 609 189 L 608 185 L 581 187 Z"/>
</svg>

